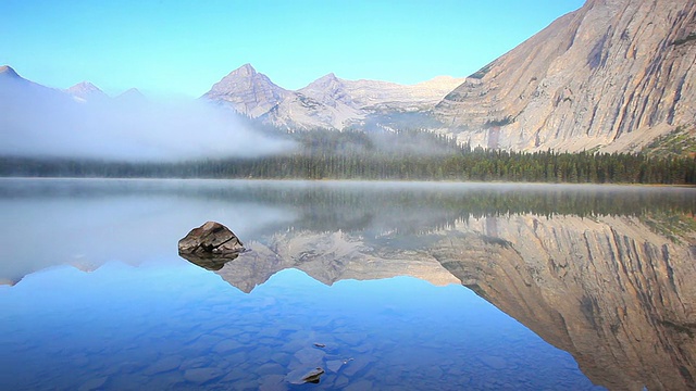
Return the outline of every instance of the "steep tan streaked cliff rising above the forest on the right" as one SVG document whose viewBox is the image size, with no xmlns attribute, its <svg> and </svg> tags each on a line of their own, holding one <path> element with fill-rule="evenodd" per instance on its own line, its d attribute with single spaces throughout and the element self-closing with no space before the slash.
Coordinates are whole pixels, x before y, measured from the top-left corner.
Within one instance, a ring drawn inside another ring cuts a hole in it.
<svg viewBox="0 0 696 391">
<path fill-rule="evenodd" d="M 513 150 L 633 151 L 695 122 L 696 3 L 588 0 L 436 108 L 458 135 Z"/>
</svg>

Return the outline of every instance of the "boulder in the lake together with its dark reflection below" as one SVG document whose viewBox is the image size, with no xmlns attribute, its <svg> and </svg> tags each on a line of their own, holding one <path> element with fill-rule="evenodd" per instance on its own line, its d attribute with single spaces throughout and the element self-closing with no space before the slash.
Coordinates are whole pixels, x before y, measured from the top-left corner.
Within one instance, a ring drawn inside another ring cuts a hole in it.
<svg viewBox="0 0 696 391">
<path fill-rule="evenodd" d="M 244 250 L 244 244 L 237 236 L 216 222 L 207 222 L 191 229 L 178 241 L 179 255 L 202 267 L 216 270 L 222 268 L 225 262 L 236 258 Z"/>
</svg>

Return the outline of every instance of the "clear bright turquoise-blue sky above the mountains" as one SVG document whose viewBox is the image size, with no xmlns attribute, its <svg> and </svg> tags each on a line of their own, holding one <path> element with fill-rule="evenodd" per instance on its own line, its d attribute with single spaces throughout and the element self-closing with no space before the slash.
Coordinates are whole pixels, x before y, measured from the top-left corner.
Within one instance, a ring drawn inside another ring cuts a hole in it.
<svg viewBox="0 0 696 391">
<path fill-rule="evenodd" d="M 0 0 L 0 65 L 67 88 L 197 98 L 251 63 L 287 89 L 335 73 L 467 76 L 584 0 Z"/>
</svg>

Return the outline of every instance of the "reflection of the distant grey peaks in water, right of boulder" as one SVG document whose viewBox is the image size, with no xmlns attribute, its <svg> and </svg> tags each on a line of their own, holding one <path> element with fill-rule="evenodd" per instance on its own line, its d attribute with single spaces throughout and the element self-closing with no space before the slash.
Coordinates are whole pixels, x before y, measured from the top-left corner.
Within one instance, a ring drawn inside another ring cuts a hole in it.
<svg viewBox="0 0 696 391">
<path fill-rule="evenodd" d="M 296 268 L 325 285 L 345 279 L 381 279 L 412 276 L 433 285 L 459 283 L 424 250 L 396 251 L 368 244 L 359 235 L 341 231 L 288 231 L 225 264 L 216 273 L 244 292 L 265 282 L 275 273 Z"/>
</svg>

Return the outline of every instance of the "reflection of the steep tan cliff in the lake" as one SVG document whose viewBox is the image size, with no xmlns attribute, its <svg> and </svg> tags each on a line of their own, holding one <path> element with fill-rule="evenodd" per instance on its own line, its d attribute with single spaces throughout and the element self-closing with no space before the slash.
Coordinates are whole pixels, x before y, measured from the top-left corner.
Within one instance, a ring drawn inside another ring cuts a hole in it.
<svg viewBox="0 0 696 391">
<path fill-rule="evenodd" d="M 686 219 L 693 217 L 685 217 Z M 433 256 L 612 390 L 696 387 L 696 240 L 637 217 L 481 218 Z"/>
</svg>

